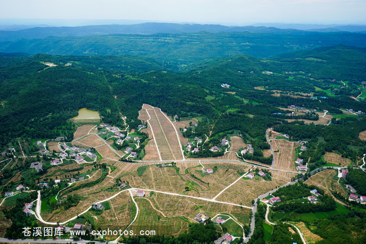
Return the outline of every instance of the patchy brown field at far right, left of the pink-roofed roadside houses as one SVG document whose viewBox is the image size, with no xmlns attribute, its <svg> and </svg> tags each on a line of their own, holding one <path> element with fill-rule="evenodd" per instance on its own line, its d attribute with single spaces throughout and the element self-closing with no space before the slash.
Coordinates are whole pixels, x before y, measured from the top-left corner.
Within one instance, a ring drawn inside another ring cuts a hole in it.
<svg viewBox="0 0 366 244">
<path fill-rule="evenodd" d="M 325 194 L 329 196 L 333 196 L 329 189 L 345 195 L 346 191 L 343 189 L 340 183 L 338 183 L 337 180 L 333 179 L 333 177 L 336 175 L 338 175 L 338 173 L 336 173 L 335 170 L 326 169 L 315 174 L 314 176 L 311 176 L 307 181 L 305 181 L 305 183 L 308 185 L 313 184 L 320 188 L 323 188 L 325 190 Z"/>
</svg>

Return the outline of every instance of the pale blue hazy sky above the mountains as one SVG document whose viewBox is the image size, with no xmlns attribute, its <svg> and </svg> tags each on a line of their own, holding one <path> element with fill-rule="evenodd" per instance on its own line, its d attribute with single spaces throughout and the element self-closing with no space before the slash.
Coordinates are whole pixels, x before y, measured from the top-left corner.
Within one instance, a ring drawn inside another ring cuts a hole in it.
<svg viewBox="0 0 366 244">
<path fill-rule="evenodd" d="M 0 19 L 366 24 L 365 13 L 366 0 L 0 0 Z"/>
</svg>

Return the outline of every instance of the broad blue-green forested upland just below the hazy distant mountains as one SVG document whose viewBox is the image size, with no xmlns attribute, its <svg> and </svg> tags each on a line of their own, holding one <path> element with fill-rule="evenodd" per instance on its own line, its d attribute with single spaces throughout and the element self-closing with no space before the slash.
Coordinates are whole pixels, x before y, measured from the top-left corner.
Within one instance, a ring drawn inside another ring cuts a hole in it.
<svg viewBox="0 0 366 244">
<path fill-rule="evenodd" d="M 309 35 L 249 32 L 198 32 L 154 35 L 102 35 L 47 37 L 0 42 L 0 52 L 47 53 L 52 55 L 133 55 L 149 56 L 185 64 L 247 54 L 265 58 L 285 52 L 335 44 L 366 47 L 366 34 L 314 33 Z"/>
</svg>

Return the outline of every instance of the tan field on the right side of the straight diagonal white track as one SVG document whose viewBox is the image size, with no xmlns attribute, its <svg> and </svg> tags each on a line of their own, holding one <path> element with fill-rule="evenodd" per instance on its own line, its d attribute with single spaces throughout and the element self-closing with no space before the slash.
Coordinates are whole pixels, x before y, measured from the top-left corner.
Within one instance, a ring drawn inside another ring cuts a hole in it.
<svg viewBox="0 0 366 244">
<path fill-rule="evenodd" d="M 272 179 L 272 181 L 265 181 L 262 177 L 259 177 L 259 180 L 242 178 L 237 183 L 226 189 L 219 197 L 216 198 L 216 200 L 251 206 L 251 201 L 256 197 L 283 184 L 283 181 L 276 179 Z"/>
</svg>

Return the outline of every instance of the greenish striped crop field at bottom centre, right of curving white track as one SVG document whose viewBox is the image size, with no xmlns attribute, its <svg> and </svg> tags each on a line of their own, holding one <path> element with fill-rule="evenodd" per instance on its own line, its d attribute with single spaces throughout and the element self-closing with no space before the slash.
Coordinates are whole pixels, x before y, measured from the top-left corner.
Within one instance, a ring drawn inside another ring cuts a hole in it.
<svg viewBox="0 0 366 244">
<path fill-rule="evenodd" d="M 188 229 L 188 222 L 180 217 L 165 218 L 145 200 L 137 198 L 139 214 L 129 230 L 139 233 L 140 230 L 155 230 L 157 235 L 178 235 Z"/>
</svg>

